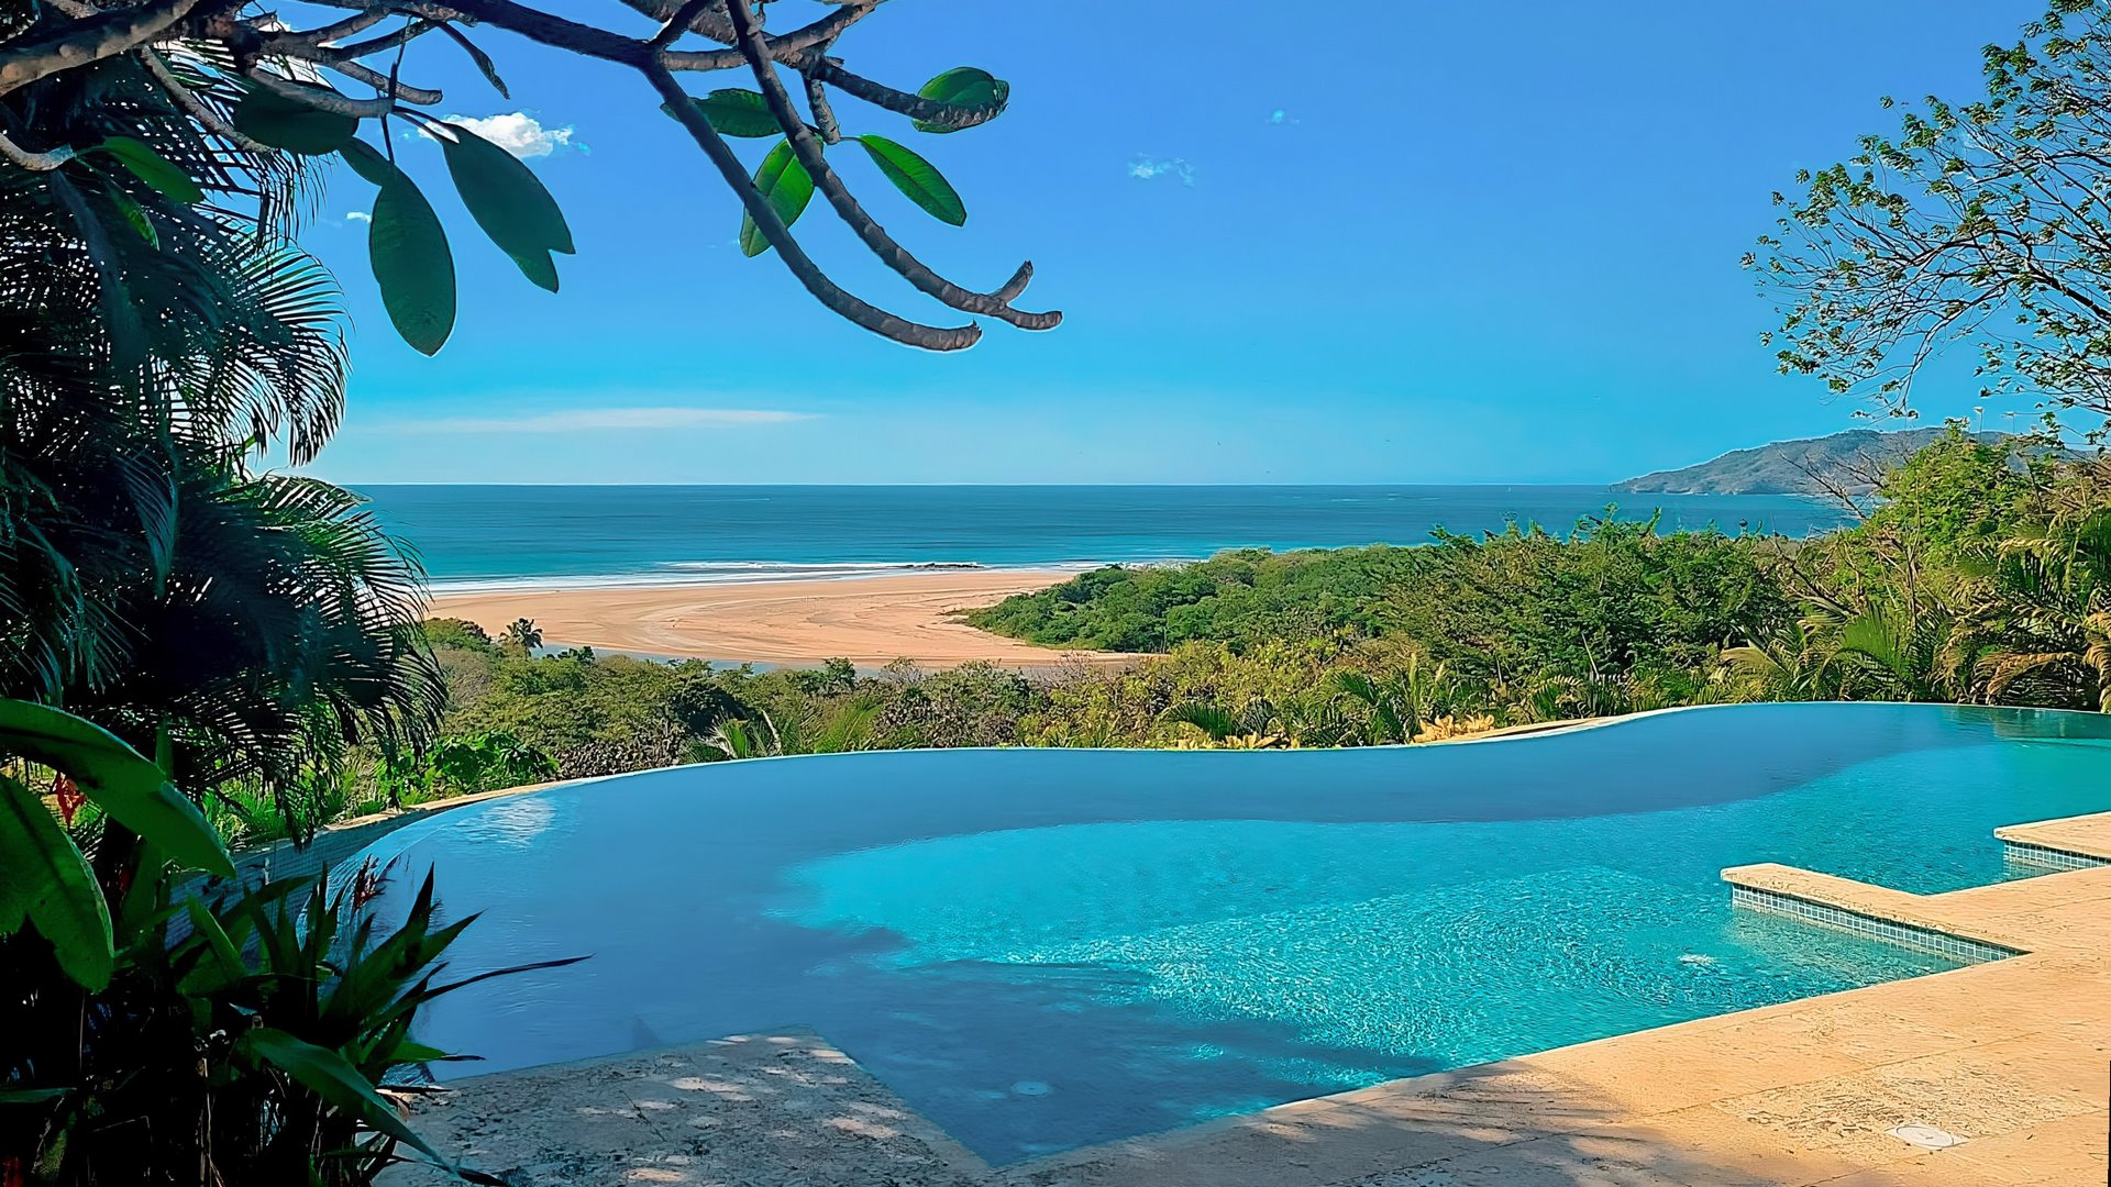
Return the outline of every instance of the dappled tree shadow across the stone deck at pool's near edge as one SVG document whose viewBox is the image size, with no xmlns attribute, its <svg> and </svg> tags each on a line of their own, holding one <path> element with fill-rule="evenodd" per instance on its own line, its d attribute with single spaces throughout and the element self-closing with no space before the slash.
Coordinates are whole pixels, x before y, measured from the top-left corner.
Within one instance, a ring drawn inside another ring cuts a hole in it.
<svg viewBox="0 0 2111 1187">
<path fill-rule="evenodd" d="M 1613 1103 L 1514 1064 L 1416 1084 L 1425 1090 L 1412 1096 L 1370 1090 L 1305 1100 L 990 1168 L 817 1035 L 785 1031 L 467 1081 L 418 1122 L 450 1155 L 521 1187 L 1805 1181 L 1792 1160 L 1765 1151 L 1742 1166 L 1704 1164 L 1661 1134 L 1619 1126 Z M 391 1187 L 441 1181 L 407 1168 L 386 1179 Z"/>
</svg>

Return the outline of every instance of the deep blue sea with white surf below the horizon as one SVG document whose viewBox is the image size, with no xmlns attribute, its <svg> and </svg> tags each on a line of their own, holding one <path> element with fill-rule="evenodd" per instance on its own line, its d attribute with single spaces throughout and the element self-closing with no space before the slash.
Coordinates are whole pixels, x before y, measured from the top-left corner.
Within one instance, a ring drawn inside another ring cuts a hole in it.
<svg viewBox="0 0 2111 1187">
<path fill-rule="evenodd" d="M 1231 547 L 1419 545 L 1507 522 L 1566 532 L 1617 507 L 1661 526 L 1807 536 L 1843 524 L 1777 494 L 1604 486 L 367 486 L 435 589 L 1091 568 Z"/>
</svg>

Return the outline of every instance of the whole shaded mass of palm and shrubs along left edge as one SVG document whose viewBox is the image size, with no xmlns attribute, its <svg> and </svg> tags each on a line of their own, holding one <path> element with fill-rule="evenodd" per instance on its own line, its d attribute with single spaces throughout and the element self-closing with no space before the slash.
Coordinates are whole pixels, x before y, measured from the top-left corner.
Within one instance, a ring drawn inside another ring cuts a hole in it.
<svg viewBox="0 0 2111 1187">
<path fill-rule="evenodd" d="M 0 97 L 63 146 L 0 165 L 0 1181 L 365 1183 L 420 1151 L 380 1084 L 439 1058 L 407 1029 L 460 923 L 203 874 L 213 819 L 306 832 L 350 754 L 410 762 L 443 689 L 416 562 L 255 467 L 336 429 L 342 310 L 289 239 L 306 167 L 171 55 L 194 89 L 141 53 Z"/>
</svg>

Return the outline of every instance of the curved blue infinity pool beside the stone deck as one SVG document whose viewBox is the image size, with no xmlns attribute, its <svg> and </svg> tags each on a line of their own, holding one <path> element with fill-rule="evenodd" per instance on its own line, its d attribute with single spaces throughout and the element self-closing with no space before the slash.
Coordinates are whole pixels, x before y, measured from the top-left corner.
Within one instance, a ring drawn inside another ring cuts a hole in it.
<svg viewBox="0 0 2111 1187">
<path fill-rule="evenodd" d="M 424 1039 L 483 1073 L 806 1024 L 992 1162 L 1953 967 L 1731 910 L 1725 866 L 1910 891 L 2111 809 L 2111 720 L 1735 705 L 1507 741 L 722 762 L 374 853 L 481 910 Z M 399 900 L 416 879 L 391 889 Z M 384 900 L 384 908 L 391 900 Z"/>
</svg>

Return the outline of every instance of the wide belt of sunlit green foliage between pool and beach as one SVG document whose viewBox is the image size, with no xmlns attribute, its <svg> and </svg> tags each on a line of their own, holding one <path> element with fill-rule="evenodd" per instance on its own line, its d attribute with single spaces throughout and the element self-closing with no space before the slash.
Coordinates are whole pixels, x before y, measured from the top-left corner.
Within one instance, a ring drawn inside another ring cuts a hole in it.
<svg viewBox="0 0 2111 1187">
<path fill-rule="evenodd" d="M 1959 431 L 1896 469 L 1864 522 L 1811 541 L 1594 517 L 1566 536 L 1102 568 L 969 621 L 1159 655 L 1051 651 L 1030 674 L 714 670 L 534 657 L 448 619 L 426 634 L 454 695 L 443 733 L 505 739 L 566 777 L 925 746 L 1362 746 L 1748 699 L 2098 708 L 2107 482 L 2098 463 Z M 464 771 L 435 794 L 500 777 Z"/>
</svg>

